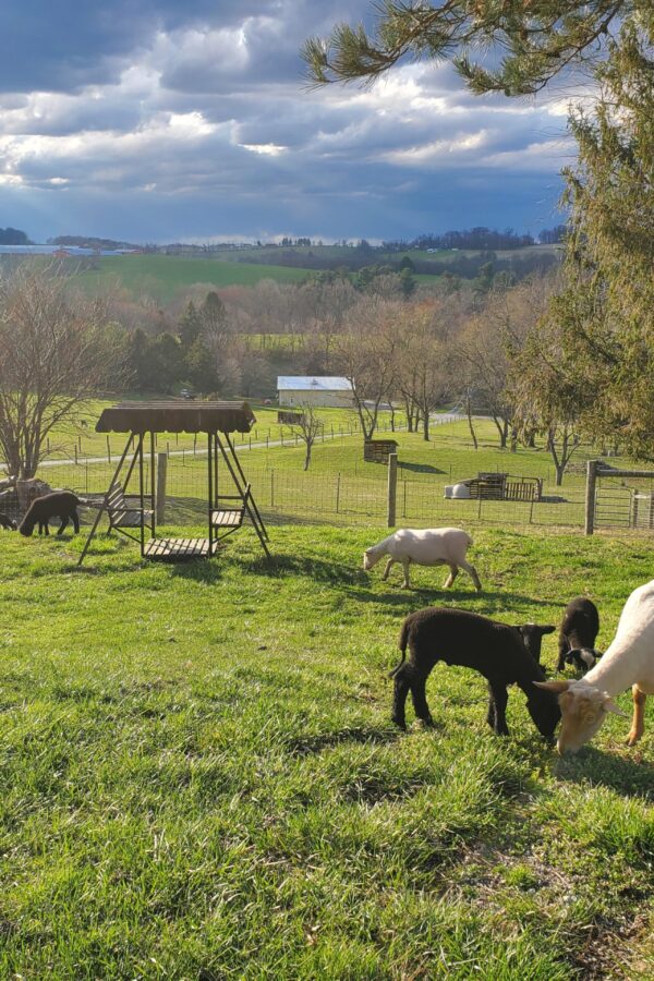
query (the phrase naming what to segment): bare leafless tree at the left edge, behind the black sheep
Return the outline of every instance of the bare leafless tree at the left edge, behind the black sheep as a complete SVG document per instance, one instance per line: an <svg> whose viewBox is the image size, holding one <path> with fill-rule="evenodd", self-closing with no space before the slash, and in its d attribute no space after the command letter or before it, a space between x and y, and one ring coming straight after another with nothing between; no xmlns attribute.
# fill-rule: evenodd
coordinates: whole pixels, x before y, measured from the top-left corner
<svg viewBox="0 0 654 981"><path fill-rule="evenodd" d="M106 326L104 304L74 295L52 267L23 263L0 279L0 453L14 476L33 477L52 431L117 387Z"/></svg>

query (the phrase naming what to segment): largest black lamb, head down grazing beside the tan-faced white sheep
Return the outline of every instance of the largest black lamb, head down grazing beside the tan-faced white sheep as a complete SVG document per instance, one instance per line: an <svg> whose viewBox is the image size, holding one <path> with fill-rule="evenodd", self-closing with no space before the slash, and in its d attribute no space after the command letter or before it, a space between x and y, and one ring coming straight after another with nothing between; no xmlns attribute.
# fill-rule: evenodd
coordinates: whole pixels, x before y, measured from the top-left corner
<svg viewBox="0 0 654 981"><path fill-rule="evenodd" d="M498 736L509 735L507 686L518 685L526 695L526 707L536 728L546 739L552 739L561 713L556 698L533 683L544 681L545 674L524 644L525 629L532 642L537 638L540 654L543 633L550 633L555 628L536 628L533 623L526 625L526 628L509 627L477 614L445 607L427 607L408 616L400 632L402 659L390 675L395 678L392 720L401 729L407 728L404 703L411 691L415 714L432 724L426 681L434 665L443 661L445 664L473 668L486 678L486 720Z"/></svg>

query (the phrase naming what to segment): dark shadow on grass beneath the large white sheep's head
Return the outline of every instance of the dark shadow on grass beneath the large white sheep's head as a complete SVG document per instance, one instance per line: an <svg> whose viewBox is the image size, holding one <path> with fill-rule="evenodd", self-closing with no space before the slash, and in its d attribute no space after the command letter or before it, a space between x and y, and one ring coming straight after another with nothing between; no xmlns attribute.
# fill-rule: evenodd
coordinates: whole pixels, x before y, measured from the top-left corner
<svg viewBox="0 0 654 981"><path fill-rule="evenodd" d="M562 756L555 765L559 780L609 787L623 797L654 796L654 765L640 759L628 760L610 752L583 747L573 756Z"/></svg>

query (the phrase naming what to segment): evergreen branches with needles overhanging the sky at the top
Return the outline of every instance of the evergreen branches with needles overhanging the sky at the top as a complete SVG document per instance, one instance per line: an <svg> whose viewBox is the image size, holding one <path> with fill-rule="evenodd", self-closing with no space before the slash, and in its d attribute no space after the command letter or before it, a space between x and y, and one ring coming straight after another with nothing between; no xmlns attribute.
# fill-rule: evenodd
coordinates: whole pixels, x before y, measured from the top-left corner
<svg viewBox="0 0 654 981"><path fill-rule="evenodd" d="M610 33L651 16L652 0L379 0L376 29L338 24L310 38L310 78L371 82L403 58L451 61L476 94L538 92L571 64L602 61ZM488 52L485 68L470 60Z"/></svg>

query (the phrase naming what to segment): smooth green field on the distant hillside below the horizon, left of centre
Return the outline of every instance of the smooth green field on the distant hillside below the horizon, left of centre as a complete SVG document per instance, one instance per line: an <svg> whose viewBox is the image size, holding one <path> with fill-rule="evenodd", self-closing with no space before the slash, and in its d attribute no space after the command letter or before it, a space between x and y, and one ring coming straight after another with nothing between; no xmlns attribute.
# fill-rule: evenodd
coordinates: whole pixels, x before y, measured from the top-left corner
<svg viewBox="0 0 654 981"><path fill-rule="evenodd" d="M301 282L314 275L310 269L177 255L102 256L95 262L99 267L97 270L80 274L89 291L110 288L119 282L135 295L145 294L160 302L172 300L177 292L197 282L215 287L254 286L262 279ZM71 267L77 264L75 259L70 263Z"/></svg>

